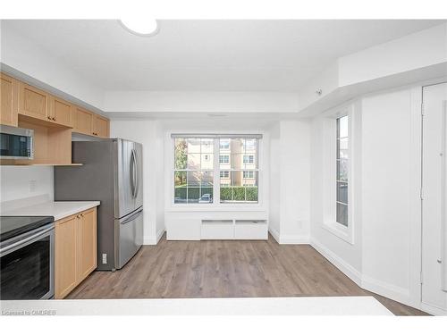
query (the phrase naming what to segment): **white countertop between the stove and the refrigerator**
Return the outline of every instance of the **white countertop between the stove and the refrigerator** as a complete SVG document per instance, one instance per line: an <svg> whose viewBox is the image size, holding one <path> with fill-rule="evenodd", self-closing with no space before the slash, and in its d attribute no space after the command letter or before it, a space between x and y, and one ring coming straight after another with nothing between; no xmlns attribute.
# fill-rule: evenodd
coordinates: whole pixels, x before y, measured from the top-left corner
<svg viewBox="0 0 447 335"><path fill-rule="evenodd" d="M48 201L2 211L6 216L54 216L55 221L99 205L99 201Z"/></svg>

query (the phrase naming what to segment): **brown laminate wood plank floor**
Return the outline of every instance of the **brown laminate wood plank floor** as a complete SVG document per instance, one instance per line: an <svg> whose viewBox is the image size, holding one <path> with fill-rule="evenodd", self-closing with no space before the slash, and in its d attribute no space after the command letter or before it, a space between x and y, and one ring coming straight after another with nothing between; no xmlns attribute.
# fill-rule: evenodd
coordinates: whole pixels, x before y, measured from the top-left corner
<svg viewBox="0 0 447 335"><path fill-rule="evenodd" d="M308 245L266 241L167 241L143 246L116 272L93 272L67 298L374 296L393 314L417 309L377 296Z"/></svg>

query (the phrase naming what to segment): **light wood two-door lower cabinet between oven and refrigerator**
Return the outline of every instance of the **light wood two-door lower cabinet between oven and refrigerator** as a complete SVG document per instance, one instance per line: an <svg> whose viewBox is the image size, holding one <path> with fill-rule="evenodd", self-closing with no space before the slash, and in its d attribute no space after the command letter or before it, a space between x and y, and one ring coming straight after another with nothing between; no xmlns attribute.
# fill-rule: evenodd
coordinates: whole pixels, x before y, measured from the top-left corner
<svg viewBox="0 0 447 335"><path fill-rule="evenodd" d="M97 208L55 222L55 298L66 297L97 268Z"/></svg>

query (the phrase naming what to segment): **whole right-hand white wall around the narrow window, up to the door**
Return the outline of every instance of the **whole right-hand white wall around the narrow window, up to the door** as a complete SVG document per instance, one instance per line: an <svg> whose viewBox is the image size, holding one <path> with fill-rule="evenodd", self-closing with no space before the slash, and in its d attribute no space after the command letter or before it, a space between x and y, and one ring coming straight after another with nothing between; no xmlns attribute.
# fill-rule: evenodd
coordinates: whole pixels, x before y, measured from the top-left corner
<svg viewBox="0 0 447 335"><path fill-rule="evenodd" d="M420 303L421 87L377 92L347 104L353 124L353 244L324 225L324 115L312 121L312 245L364 288ZM336 113L345 105L327 113Z"/></svg>

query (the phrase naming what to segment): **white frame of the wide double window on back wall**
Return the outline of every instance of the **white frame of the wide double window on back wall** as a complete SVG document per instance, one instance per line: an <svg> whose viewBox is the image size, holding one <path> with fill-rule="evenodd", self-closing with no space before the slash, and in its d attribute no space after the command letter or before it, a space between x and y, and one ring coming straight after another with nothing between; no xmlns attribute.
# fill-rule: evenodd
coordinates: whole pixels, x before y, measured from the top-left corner
<svg viewBox="0 0 447 335"><path fill-rule="evenodd" d="M165 174L166 180L165 185L166 187L169 185L169 192L165 192L165 210L166 211L196 211L196 210L205 210L205 211L242 211L242 210L265 210L264 204L265 204L265 192L268 192L268 190L265 190L266 185L263 180L264 178L264 168L262 168L263 165L261 165L264 162L264 146L265 146L265 137L266 134L264 132L240 132L240 133L231 133L231 134L224 134L224 133L202 133L200 131L198 132L188 132L185 133L183 131L167 131L166 134L166 144L169 143L169 152L170 155L166 156L168 160L165 162L169 162L169 173ZM209 204L196 204L196 203L190 203L190 204L179 204L175 203L174 199L174 191L175 191L175 180L174 180L174 174L175 174L175 159L174 159L174 143L175 143L175 137L177 137L177 134L181 134L182 138L207 138L207 135L210 136L210 138L215 138L214 142L214 169L213 169L213 202ZM219 168L219 157L220 157L220 138L239 138L238 135L240 135L240 138L250 138L249 136L253 134L253 138L257 138L257 159L255 160L257 162L257 169L253 170L254 172L257 172L257 202L241 202L241 203L221 203L220 202L220 171L228 171L231 172L234 171L229 167L228 169L220 169ZM268 140L268 139L267 139ZM230 146L231 147L231 146ZM228 150L227 148L223 148L223 150ZM226 153L223 153L223 155L228 155ZM230 158L231 160L231 158ZM229 164L231 161L229 161ZM240 169L242 170L242 169ZM167 179L167 176L169 175L169 180Z"/></svg>

